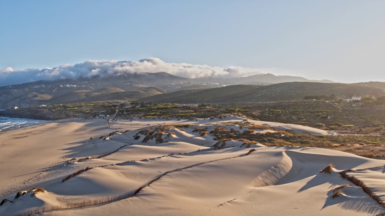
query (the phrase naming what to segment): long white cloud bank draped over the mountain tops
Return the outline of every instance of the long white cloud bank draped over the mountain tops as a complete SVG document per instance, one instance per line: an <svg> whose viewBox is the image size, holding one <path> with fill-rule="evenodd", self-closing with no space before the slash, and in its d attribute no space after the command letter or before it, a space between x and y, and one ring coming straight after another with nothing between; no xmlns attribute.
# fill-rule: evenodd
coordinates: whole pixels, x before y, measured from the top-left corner
<svg viewBox="0 0 385 216"><path fill-rule="evenodd" d="M258 73L279 72L279 68L253 69L237 66L228 68L208 65L192 65L187 63L166 63L159 58L145 58L139 61L85 61L75 65L61 65L42 70L33 68L13 70L11 67L0 70L0 86L27 83L38 80L58 80L64 78L111 76L126 73L156 73L165 71L186 78L203 77L239 77Z"/></svg>

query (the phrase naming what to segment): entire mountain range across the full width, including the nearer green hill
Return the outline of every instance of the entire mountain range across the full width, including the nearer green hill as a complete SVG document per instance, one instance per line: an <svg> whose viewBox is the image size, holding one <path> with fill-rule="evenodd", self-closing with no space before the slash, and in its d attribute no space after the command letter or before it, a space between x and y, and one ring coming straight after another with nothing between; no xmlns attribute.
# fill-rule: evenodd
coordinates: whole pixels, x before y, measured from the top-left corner
<svg viewBox="0 0 385 216"><path fill-rule="evenodd" d="M303 98L306 95L382 96L385 83L334 83L298 76L258 74L239 78L187 79L166 72L94 76L77 80L35 81L0 87L0 109L42 104L80 103L102 100L152 101L156 103L242 103ZM293 81L285 82L283 81ZM303 82L306 81L306 82ZM278 83L275 83L278 82ZM218 84L219 83L219 84ZM230 85L248 83L258 85Z"/></svg>

